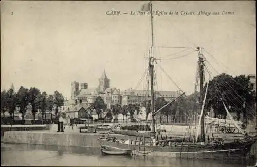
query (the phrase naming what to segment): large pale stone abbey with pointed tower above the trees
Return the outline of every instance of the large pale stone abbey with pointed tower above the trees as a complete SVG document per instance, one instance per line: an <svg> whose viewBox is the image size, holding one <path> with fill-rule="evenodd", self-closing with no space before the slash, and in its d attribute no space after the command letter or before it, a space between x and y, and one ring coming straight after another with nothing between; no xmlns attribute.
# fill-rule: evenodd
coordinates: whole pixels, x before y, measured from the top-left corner
<svg viewBox="0 0 257 167"><path fill-rule="evenodd" d="M110 79L107 78L105 70L103 71L101 78L99 78L98 87L88 88L87 83L78 83L76 81L71 83L71 100L76 103L90 104L95 101L98 96L101 96L105 104L107 104L107 109L110 108L112 104L136 104L141 103L146 98L149 99L150 95L146 97L146 91L144 90L134 90L127 89L120 91L115 87L111 88ZM176 91L156 91L156 97L164 97L166 100L170 101L177 97Z"/></svg>

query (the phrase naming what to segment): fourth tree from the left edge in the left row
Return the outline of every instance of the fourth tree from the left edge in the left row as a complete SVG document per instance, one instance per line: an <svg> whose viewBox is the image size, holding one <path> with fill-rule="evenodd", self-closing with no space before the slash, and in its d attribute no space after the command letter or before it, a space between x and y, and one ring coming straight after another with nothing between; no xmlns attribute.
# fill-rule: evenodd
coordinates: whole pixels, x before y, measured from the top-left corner
<svg viewBox="0 0 257 167"><path fill-rule="evenodd" d="M33 124L35 123L35 113L37 112L37 108L40 105L40 98L38 98L38 96L40 95L40 90L35 88L35 87L31 87L29 89L29 103L32 106L32 114L33 114Z"/></svg>

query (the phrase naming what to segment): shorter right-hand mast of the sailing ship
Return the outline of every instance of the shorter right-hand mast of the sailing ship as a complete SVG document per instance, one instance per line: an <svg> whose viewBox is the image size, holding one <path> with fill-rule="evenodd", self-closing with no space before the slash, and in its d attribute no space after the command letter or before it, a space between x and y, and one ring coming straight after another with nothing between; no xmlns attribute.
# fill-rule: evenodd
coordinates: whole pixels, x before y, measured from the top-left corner
<svg viewBox="0 0 257 167"><path fill-rule="evenodd" d="M199 96L199 106L203 107L204 100L204 60L203 54L201 54L201 48L198 48L198 66L199 66L199 77L200 77L200 96ZM201 117L201 141L205 142L205 123L204 123L204 115Z"/></svg>

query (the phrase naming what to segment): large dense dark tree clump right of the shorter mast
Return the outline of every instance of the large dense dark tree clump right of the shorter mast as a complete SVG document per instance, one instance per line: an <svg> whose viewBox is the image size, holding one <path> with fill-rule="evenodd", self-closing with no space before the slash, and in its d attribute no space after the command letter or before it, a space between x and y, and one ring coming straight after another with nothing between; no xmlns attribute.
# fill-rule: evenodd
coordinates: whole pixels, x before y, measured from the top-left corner
<svg viewBox="0 0 257 167"><path fill-rule="evenodd" d="M226 119L227 112L222 102L225 103L228 110L237 112L238 120L240 113L246 118L253 119L252 115L256 97L254 92L249 89L249 78L245 75L232 77L226 73L222 73L214 77L209 82L208 93L206 97L206 108L214 110L214 117ZM205 88L206 89L206 86ZM222 98L222 100L221 100Z"/></svg>

